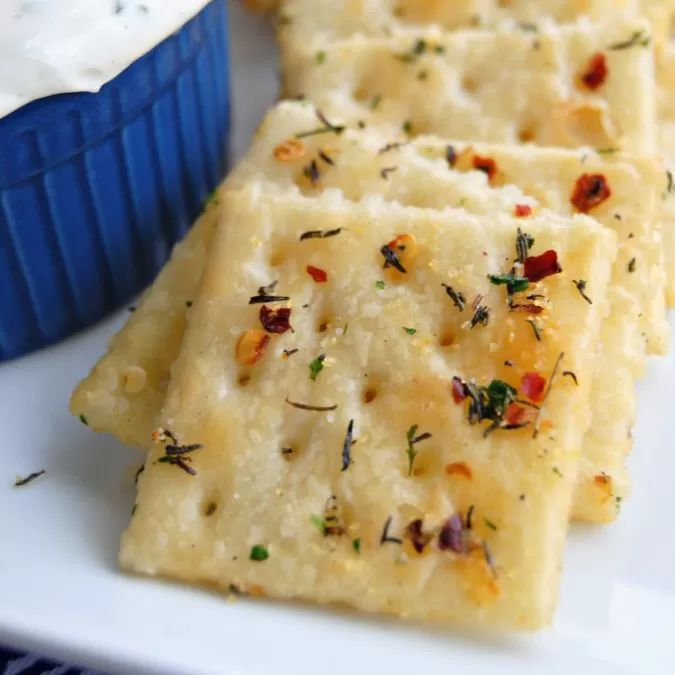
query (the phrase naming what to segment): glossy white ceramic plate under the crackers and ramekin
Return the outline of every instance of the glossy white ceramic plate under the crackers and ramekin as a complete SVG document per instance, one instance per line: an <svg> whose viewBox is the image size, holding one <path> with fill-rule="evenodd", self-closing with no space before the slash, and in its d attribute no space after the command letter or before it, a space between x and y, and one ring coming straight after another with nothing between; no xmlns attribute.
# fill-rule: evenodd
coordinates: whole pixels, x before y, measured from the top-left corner
<svg viewBox="0 0 675 675"><path fill-rule="evenodd" d="M239 156L276 93L270 31L231 8ZM666 673L675 669L675 358L639 385L634 489L573 527L555 625L479 636L125 576L139 453L68 416L125 313L0 367L0 643L117 673ZM675 322L672 322L675 324ZM47 475L17 490L15 474Z"/></svg>

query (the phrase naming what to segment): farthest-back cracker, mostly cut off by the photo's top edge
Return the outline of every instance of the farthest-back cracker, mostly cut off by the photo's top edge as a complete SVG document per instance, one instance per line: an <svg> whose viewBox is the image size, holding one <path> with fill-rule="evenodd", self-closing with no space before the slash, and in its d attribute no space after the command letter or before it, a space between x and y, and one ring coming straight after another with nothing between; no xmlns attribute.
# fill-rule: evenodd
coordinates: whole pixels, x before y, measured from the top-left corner
<svg viewBox="0 0 675 675"><path fill-rule="evenodd" d="M446 31L489 29L510 21L534 32L542 21L607 21L618 12L636 15L637 0L283 0L279 21L286 41L321 43L355 34L382 36L429 26Z"/></svg>

